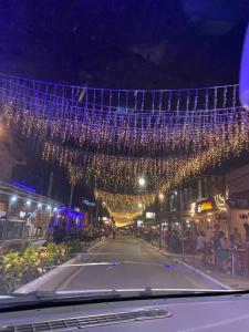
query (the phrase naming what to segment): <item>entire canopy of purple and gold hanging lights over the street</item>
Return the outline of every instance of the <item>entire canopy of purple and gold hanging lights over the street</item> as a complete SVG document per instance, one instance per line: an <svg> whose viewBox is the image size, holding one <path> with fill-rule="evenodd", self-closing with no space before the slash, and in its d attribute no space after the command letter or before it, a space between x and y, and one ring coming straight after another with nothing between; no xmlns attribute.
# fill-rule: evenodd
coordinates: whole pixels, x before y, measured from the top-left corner
<svg viewBox="0 0 249 332"><path fill-rule="evenodd" d="M7 125L38 137L42 157L65 167L72 185L94 179L96 198L120 221L249 148L238 85L110 90L0 74L0 105ZM141 175L152 193L131 195Z"/></svg>

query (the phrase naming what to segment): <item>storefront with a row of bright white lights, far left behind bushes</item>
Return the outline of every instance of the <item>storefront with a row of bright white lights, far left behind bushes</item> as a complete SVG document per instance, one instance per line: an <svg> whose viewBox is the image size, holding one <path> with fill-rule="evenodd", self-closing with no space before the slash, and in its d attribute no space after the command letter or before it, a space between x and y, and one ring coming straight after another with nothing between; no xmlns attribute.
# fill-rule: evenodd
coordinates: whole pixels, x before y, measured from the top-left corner
<svg viewBox="0 0 249 332"><path fill-rule="evenodd" d="M44 238L59 206L34 189L0 181L0 240Z"/></svg>

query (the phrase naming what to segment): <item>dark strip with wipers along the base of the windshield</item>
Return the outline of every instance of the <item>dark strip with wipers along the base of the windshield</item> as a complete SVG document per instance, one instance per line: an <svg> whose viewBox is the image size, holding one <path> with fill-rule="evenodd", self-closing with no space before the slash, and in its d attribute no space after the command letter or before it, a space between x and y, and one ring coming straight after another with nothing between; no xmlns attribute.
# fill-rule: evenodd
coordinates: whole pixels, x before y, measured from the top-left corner
<svg viewBox="0 0 249 332"><path fill-rule="evenodd" d="M35 291L28 294L11 293L9 299L0 302L0 312L28 310L37 308L63 307L71 304L97 303L105 301L129 301L170 299L186 297L212 297L243 294L248 291L204 290L204 289L114 289L114 290L77 290L77 291Z"/></svg>

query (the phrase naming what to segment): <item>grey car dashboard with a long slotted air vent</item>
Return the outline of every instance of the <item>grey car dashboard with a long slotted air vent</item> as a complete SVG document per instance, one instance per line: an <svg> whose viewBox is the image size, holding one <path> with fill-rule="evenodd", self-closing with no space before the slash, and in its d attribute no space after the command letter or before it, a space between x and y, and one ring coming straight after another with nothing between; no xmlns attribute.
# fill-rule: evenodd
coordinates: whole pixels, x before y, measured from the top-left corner
<svg viewBox="0 0 249 332"><path fill-rule="evenodd" d="M121 300L0 313L0 331L249 331L249 295Z"/></svg>

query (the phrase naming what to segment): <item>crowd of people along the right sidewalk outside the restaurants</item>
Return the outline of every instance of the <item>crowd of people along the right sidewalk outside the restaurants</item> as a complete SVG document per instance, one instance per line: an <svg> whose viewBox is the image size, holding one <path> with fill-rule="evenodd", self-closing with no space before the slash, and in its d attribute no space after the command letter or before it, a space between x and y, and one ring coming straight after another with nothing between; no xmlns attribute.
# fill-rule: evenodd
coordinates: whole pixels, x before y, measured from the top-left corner
<svg viewBox="0 0 249 332"><path fill-rule="evenodd" d="M174 227L163 229L163 243L170 252L190 253L194 257L200 256L201 263L214 266L217 270L231 272L231 264L236 273L245 273L249 267L249 225L243 225L245 236L235 227L229 236L217 224L214 228L186 229L184 232ZM159 243L159 228L151 226L139 232L145 240L153 245ZM242 240L245 238L245 241ZM184 246L183 246L184 245ZM234 262L232 259L234 259ZM248 263L247 263L248 260Z"/></svg>

